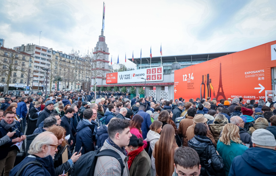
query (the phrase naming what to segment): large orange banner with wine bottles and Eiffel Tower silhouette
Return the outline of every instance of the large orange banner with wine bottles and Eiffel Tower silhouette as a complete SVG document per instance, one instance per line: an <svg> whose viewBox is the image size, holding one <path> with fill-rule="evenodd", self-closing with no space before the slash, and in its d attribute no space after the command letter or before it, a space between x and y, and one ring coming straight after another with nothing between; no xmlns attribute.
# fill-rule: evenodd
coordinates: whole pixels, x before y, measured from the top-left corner
<svg viewBox="0 0 276 176"><path fill-rule="evenodd" d="M176 70L174 99L265 99L265 90L271 90L271 68L276 67L275 48L272 41Z"/></svg>

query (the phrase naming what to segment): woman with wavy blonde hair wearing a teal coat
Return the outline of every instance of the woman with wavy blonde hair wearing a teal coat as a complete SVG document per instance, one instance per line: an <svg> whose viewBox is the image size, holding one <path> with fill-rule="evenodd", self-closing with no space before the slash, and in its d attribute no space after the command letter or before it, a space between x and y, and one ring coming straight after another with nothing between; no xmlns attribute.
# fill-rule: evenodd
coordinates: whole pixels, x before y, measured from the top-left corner
<svg viewBox="0 0 276 176"><path fill-rule="evenodd" d="M237 125L224 125L217 143L217 152L223 159L225 175L229 174L230 166L236 156L242 155L248 147L240 140L240 129Z"/></svg>

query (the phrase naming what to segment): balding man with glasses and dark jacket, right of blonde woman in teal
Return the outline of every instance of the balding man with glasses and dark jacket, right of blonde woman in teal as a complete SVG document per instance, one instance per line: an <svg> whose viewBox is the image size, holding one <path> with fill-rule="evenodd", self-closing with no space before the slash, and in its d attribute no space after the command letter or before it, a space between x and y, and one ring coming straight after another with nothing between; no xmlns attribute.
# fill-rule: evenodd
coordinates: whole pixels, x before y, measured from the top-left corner
<svg viewBox="0 0 276 176"><path fill-rule="evenodd" d="M237 125L240 129L240 140L243 144L249 144L249 147L253 147L253 143L251 141L251 136L247 131L244 129L244 122L243 119L239 116L233 116L230 118L230 123Z"/></svg>

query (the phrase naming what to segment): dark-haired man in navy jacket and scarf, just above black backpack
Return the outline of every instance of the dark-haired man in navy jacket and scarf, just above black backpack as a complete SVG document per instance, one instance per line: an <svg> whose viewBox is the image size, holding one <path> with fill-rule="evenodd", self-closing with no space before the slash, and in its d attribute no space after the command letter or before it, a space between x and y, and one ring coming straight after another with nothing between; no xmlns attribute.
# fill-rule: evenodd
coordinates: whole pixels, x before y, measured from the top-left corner
<svg viewBox="0 0 276 176"><path fill-rule="evenodd" d="M97 111L94 109L86 109L83 112L83 118L79 121L77 126L76 136L76 148L75 151L79 151L82 147L82 155L94 151L94 142L96 142L96 131L97 124L91 123L97 117Z"/></svg>

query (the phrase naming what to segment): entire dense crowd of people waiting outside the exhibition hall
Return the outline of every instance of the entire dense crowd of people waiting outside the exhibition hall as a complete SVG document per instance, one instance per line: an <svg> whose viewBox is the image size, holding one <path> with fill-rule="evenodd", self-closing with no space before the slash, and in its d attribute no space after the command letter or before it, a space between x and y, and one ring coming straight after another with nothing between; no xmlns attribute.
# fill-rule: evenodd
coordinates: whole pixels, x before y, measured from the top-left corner
<svg viewBox="0 0 276 176"><path fill-rule="evenodd" d="M90 165L94 176L276 175L272 99L98 93L103 98L89 91L1 95L0 172L73 176ZM14 144L25 140L27 154L18 162ZM64 150L68 160L60 162Z"/></svg>

